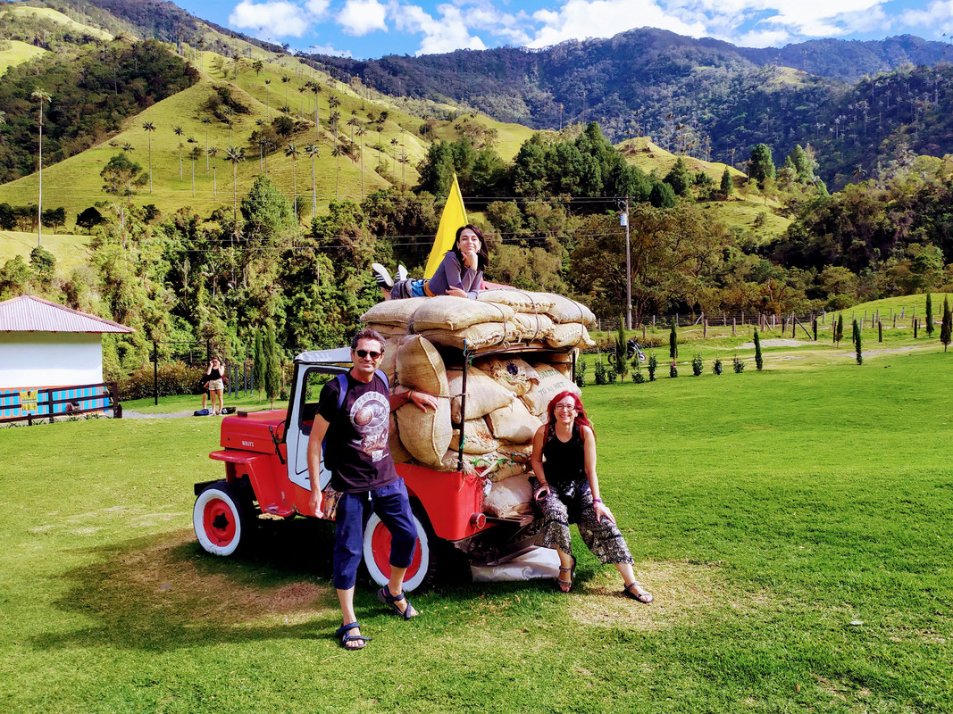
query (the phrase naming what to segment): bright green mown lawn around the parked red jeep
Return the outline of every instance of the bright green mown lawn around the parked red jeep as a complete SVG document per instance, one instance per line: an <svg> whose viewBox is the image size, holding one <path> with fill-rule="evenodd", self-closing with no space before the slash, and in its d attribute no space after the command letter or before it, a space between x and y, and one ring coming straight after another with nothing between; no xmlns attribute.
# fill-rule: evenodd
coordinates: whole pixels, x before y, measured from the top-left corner
<svg viewBox="0 0 953 714"><path fill-rule="evenodd" d="M0 706L948 712L953 355L937 345L586 387L603 498L656 602L620 597L577 539L568 596L441 585L404 623L358 585L374 637L358 653L331 637L327 524L263 522L240 559L195 544L217 420L2 430Z"/></svg>

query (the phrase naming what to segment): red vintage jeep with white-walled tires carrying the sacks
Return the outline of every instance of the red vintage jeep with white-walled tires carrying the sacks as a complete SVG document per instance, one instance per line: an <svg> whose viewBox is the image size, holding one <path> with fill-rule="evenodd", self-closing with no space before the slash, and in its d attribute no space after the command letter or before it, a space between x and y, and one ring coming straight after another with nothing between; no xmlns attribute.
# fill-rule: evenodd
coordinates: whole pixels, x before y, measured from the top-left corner
<svg viewBox="0 0 953 714"><path fill-rule="evenodd" d="M537 344L480 350L479 354L530 352L544 356L568 351ZM456 360L464 367L464 391L467 367L474 356L456 350ZM448 364L454 358L445 355ZM222 421L222 449L209 457L225 462L225 478L195 484L193 526L205 550L232 555L252 537L262 513L314 517L309 506L307 452L317 398L327 375L347 371L350 364L348 347L299 354L294 359L287 411L239 411ZM465 419L465 400L462 408ZM441 555L465 554L474 565L497 565L532 547L532 516L498 519L484 515L484 489L489 486L485 479L459 470L437 472L411 464L398 464L397 472L407 484L417 526L417 548L404 582L406 590L432 583ZM321 488L330 480L331 474L322 468ZM380 585L386 584L390 575L390 541L390 532L372 513L364 531L364 563Z"/></svg>

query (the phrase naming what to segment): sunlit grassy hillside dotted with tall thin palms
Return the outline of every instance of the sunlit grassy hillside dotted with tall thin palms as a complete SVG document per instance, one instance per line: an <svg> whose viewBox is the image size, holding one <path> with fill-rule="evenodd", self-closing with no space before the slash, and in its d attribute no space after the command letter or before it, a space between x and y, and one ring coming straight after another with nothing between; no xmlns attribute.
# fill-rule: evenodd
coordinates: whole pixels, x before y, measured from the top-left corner
<svg viewBox="0 0 953 714"><path fill-rule="evenodd" d="M109 141L45 168L44 205L51 208L59 206L67 208L68 221L71 223L76 214L84 208L97 201L109 199L110 197L101 190L102 180L99 172L126 143L133 147L132 160L143 169L148 169L150 137L142 129L142 125L151 121L156 128L152 132L152 193L148 187L140 189L138 195L132 200L137 204L154 203L166 212L192 207L200 213L208 214L218 206L230 206L233 193L232 166L222 158L224 149L229 146L229 131L224 124L217 121L209 126L209 144L219 149L219 153L218 157L211 162L215 170L206 173L204 158L206 127L201 124L201 118L204 115L201 107L213 93L213 86L222 82L232 84L237 90L236 96L251 109L250 114L236 115L232 131L233 144L245 146L248 156L247 161L239 164L237 170L239 199L248 192L254 177L260 172L258 151L247 146L248 137L256 129L255 121L273 119L276 108L285 105L286 96L292 116L299 119L302 94L298 88L306 79L318 81L322 88L317 100L321 123L321 155L315 160L319 209L326 208L330 201L335 200L335 196L359 200L362 195L360 162L352 161L346 156L342 156L338 162L331 154L334 146L328 123L328 97L331 94L335 94L341 102L337 111L341 115L339 135L342 139L344 137L350 139L351 128L347 126L347 121L352 117L352 111L357 112L356 118L364 124L367 124L369 111L379 114L381 109L388 109L390 113L390 118L382 132L378 133L368 126L364 136L364 194L377 188L391 186L389 181L375 172L378 163L385 163L391 167L391 175L397 185L406 182L408 186L413 186L416 183L418 177L416 164L424 158L427 150L426 143L416 133L421 122L418 118L395 108L385 97L374 95L369 99L360 96L357 90L334 82L327 75L290 61L287 57L266 63L264 70L258 75L251 69L251 62L243 60L237 77L233 76L231 65L228 63L224 73L216 70L215 57L216 55L211 52L198 53L196 64L203 72L203 79L193 88L180 92L132 117L125 123L125 129ZM292 81L283 83L281 81L283 76L292 77ZM270 85L265 84L266 79L271 80ZM362 88L358 89L364 91ZM297 160L296 187L298 201L306 207L306 216L311 212L312 183L311 161L303 154L303 149L306 144L314 142L315 139L313 97L314 95L310 92L303 96L304 114L310 129L304 129L291 137L291 143L294 143L298 149L302 149L302 155ZM519 143L530 135L530 129L525 127L502 125L483 117L479 121L497 128L499 150L503 151L507 158L512 158ZM179 179L179 138L172 131L175 126L183 128L183 142L190 136L195 139L194 145L185 143L183 147L185 154L193 146L198 146L203 151L203 157L195 162L194 196L192 164L188 158L183 159L182 179ZM442 129L442 133L447 133L447 129ZM392 140L396 140L397 146L391 144ZM384 146L383 152L372 148L378 141ZM360 139L356 136L355 144L360 145ZM409 158L406 167L401 167L395 161L395 154L399 154L400 145L406 150ZM285 147L282 147L268 157L267 169L279 188L291 197L294 195L293 183L295 183L293 167L291 159L285 157L284 149ZM338 165L340 167L339 185L335 181ZM0 186L0 201L23 205L35 200L38 190L37 182L37 176L33 174Z"/></svg>

